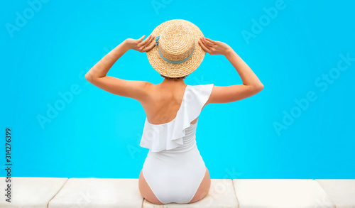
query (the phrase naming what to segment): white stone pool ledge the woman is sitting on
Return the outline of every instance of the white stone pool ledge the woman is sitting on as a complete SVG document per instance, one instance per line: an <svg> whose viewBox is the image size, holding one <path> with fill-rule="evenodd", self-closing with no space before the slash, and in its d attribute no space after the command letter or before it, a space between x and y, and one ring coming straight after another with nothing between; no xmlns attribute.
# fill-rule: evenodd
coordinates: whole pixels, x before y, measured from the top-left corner
<svg viewBox="0 0 355 208"><path fill-rule="evenodd" d="M192 204L155 205L143 199L138 179L0 177L0 207L355 207L355 180L212 179L209 194Z"/></svg>

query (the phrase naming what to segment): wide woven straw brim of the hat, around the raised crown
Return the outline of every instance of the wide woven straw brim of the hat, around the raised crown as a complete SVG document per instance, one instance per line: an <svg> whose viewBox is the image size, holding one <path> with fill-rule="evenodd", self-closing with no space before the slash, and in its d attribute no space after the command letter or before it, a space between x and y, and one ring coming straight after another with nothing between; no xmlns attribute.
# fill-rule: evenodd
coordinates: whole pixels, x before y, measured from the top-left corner
<svg viewBox="0 0 355 208"><path fill-rule="evenodd" d="M165 26L176 22L184 23L186 26L190 27L190 30L195 37L195 50L188 60L179 64L173 64L163 60L159 54L158 46L154 47L152 50L149 50L147 52L149 63L151 63L154 70L156 70L160 75L164 75L165 77L185 77L186 75L190 75L190 73L194 72L197 67L200 66L202 60L204 59L204 55L206 54L206 52L198 43L200 38L204 37L204 35L200 31L200 28L195 26L195 24L191 23L190 21L185 21L182 19L165 21L157 26L151 35L157 37L163 31ZM149 45L153 44L155 44L155 40L153 40Z"/></svg>

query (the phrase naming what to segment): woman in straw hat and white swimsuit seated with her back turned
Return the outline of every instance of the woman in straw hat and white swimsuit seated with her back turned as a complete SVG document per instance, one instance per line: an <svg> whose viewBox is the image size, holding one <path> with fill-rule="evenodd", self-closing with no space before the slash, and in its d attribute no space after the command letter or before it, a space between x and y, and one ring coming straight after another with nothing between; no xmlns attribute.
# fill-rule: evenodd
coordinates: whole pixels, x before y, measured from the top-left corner
<svg viewBox="0 0 355 208"><path fill-rule="evenodd" d="M149 148L149 152L139 176L141 195L153 204L197 202L208 194L211 183L195 140L200 112L207 104L251 97L263 89L263 84L229 45L204 38L189 21L166 21L146 40L144 37L124 40L85 77L107 92L138 100L146 112L140 146ZM153 68L164 77L163 82L107 76L114 62L130 49L146 52ZM197 69L206 52L226 56L243 84L185 84L185 77Z"/></svg>

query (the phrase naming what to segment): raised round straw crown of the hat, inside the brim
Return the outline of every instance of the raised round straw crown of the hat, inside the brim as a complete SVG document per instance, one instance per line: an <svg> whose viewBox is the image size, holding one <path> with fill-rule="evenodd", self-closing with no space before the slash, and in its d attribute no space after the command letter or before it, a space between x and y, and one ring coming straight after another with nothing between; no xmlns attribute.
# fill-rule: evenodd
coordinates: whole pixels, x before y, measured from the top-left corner
<svg viewBox="0 0 355 208"><path fill-rule="evenodd" d="M191 55L195 38L190 27L183 23L172 23L165 27L159 38L161 55L171 61L180 61Z"/></svg>

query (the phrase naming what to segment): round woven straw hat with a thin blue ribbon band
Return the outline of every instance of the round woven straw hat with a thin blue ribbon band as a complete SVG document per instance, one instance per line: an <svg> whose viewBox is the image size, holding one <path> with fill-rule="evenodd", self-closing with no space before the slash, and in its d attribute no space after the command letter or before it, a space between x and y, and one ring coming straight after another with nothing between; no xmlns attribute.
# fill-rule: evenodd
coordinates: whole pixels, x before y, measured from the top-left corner
<svg viewBox="0 0 355 208"><path fill-rule="evenodd" d="M147 52L152 67L165 77L185 77L200 66L206 52L198 41L202 32L190 21L173 19L156 27L152 50Z"/></svg>

